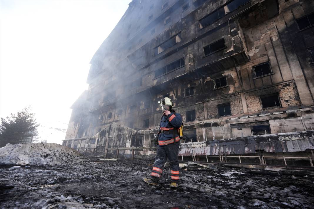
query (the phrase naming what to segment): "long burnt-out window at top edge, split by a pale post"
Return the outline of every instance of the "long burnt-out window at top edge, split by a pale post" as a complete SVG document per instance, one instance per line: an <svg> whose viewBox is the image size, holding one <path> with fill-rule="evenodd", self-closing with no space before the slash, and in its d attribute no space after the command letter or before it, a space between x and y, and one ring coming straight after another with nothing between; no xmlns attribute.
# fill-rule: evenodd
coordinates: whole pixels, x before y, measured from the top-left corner
<svg viewBox="0 0 314 209"><path fill-rule="evenodd" d="M215 10L214 12L210 13L206 17L199 20L199 26L202 29L203 27L206 27L212 23L214 23L216 20L224 17L226 14L236 10L238 7L248 3L249 0L234 0L230 3L228 3L226 6L219 8Z"/></svg>

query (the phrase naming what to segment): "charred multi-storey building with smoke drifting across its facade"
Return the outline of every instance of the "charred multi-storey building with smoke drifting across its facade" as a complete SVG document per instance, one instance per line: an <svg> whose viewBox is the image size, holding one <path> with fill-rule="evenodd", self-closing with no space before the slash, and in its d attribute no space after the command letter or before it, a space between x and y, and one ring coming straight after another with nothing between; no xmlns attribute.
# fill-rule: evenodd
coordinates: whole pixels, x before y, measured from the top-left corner
<svg viewBox="0 0 314 209"><path fill-rule="evenodd" d="M182 159L314 158L313 11L305 0L133 0L90 62L63 144L154 154L157 102L170 97Z"/></svg>

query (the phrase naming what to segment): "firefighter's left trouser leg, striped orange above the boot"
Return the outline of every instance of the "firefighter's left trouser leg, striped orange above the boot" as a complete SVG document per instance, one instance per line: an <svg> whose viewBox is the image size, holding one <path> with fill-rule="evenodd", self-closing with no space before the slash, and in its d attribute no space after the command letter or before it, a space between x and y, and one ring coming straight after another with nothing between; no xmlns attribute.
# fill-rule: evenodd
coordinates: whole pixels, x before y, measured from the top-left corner
<svg viewBox="0 0 314 209"><path fill-rule="evenodd" d="M167 161L167 155L164 146L158 146L157 155L155 157L155 162L153 165L153 171L150 174L151 179L158 182L164 168L165 162Z"/></svg>

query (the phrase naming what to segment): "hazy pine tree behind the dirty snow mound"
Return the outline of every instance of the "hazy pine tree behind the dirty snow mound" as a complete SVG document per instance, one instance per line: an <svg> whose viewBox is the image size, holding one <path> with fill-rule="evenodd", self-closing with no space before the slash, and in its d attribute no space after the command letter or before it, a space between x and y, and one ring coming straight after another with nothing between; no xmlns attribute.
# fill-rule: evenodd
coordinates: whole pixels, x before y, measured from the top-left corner
<svg viewBox="0 0 314 209"><path fill-rule="evenodd" d="M11 113L11 117L1 118L0 147L7 143L30 142L31 138L38 135L39 124L35 121L35 114L30 110L30 107L25 107L16 115Z"/></svg>

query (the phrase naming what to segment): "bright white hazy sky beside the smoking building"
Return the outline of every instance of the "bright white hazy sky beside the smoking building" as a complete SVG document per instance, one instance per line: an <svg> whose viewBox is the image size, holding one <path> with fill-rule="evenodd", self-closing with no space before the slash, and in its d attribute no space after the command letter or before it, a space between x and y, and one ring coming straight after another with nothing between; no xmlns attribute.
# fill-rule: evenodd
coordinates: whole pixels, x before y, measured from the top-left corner
<svg viewBox="0 0 314 209"><path fill-rule="evenodd" d="M89 61L130 2L0 0L0 116L31 105L42 125L66 128Z"/></svg>

